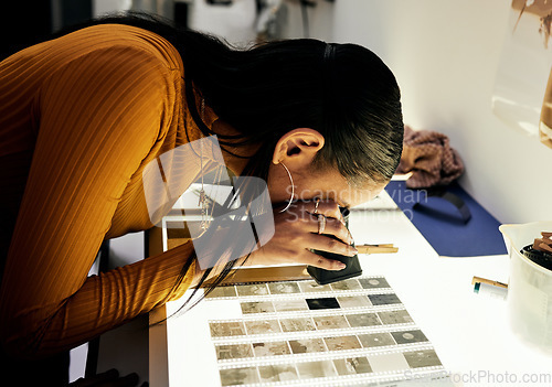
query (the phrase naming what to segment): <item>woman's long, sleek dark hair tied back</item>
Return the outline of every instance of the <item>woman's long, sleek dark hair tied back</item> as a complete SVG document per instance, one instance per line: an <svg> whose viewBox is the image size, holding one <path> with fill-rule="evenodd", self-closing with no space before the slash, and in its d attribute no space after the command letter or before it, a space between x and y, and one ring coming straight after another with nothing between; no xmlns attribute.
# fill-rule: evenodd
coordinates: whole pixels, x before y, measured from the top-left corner
<svg viewBox="0 0 552 387"><path fill-rule="evenodd" d="M337 168L355 187L388 182L399 164L403 141L399 86L365 47L297 39L236 50L217 37L144 13L93 22L99 23L149 30L178 50L187 100L195 101L199 90L205 104L241 135L214 133L201 120L199 107L189 104L201 131L217 135L229 152L243 144L259 146L244 174L266 180L276 142L295 128L312 128L325 137L315 169ZM231 270L229 262L215 284Z"/></svg>

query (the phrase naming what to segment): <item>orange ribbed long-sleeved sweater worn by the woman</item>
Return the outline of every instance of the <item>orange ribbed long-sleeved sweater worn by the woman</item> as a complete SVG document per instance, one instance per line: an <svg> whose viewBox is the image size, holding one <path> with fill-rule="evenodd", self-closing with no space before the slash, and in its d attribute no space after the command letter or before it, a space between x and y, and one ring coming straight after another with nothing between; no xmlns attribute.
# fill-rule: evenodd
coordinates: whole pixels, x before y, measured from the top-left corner
<svg viewBox="0 0 552 387"><path fill-rule="evenodd" d="M181 57L166 40L118 24L86 28L0 63L0 215L4 238L12 233L0 257L7 351L36 356L74 347L189 287L193 264L171 292L190 243L87 277L104 239L152 226L145 165L185 143L184 130L199 138L182 76ZM216 116L205 114L210 126ZM193 180L199 170L188 173Z"/></svg>

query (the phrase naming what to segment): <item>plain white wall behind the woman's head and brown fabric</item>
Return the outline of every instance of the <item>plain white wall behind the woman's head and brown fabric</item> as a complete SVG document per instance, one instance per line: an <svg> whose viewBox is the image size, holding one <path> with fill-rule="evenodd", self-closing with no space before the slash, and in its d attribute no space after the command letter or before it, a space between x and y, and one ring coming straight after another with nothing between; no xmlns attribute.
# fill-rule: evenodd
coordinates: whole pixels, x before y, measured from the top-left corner
<svg viewBox="0 0 552 387"><path fill-rule="evenodd" d="M333 40L362 44L395 73L405 122L446 133L461 185L499 222L552 219L552 150L490 108L509 0L340 0Z"/></svg>

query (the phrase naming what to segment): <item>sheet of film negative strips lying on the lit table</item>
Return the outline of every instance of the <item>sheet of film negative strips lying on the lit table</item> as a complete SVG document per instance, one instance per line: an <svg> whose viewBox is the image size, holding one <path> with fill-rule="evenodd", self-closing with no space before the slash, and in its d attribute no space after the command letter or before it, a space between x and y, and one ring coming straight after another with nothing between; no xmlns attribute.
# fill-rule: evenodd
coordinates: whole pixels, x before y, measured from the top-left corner
<svg viewBox="0 0 552 387"><path fill-rule="evenodd" d="M383 277L222 287L210 319L222 386L360 386L446 375L427 336Z"/></svg>

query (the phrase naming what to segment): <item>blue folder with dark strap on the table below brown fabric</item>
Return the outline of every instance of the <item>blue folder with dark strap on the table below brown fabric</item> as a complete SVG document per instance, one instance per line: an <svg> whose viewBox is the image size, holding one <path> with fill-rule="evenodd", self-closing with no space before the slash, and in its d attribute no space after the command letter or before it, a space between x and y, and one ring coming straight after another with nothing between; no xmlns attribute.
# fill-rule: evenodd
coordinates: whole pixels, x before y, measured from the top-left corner
<svg viewBox="0 0 552 387"><path fill-rule="evenodd" d="M404 181L385 191L440 256L507 254L500 223L456 182L442 189L410 190Z"/></svg>

